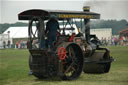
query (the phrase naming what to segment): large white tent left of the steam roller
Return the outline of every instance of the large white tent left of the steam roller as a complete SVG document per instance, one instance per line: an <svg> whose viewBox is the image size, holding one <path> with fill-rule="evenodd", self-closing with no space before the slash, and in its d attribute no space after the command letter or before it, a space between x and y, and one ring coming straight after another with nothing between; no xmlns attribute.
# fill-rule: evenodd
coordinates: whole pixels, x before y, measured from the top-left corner
<svg viewBox="0 0 128 85"><path fill-rule="evenodd" d="M35 27L33 26L33 30ZM28 27L9 27L2 35L8 35L7 38L3 38L3 41L8 39L11 41L11 47L15 47L16 42L26 43L26 39L28 38ZM3 42L2 41L2 42Z"/></svg>

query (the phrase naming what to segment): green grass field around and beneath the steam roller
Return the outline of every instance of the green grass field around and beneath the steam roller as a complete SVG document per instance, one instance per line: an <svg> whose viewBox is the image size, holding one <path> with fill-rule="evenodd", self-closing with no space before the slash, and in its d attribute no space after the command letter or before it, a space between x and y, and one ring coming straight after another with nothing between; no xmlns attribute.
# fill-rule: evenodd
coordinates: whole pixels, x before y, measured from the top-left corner
<svg viewBox="0 0 128 85"><path fill-rule="evenodd" d="M128 85L128 46L108 47L116 59L107 74L84 74L74 81L28 76L28 50L0 50L0 85Z"/></svg>

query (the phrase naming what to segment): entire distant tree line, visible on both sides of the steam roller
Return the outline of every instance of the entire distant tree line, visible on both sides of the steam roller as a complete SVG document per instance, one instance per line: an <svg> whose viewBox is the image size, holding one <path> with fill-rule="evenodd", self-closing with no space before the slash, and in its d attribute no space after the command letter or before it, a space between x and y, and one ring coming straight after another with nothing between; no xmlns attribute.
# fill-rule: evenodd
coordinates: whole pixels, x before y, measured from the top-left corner
<svg viewBox="0 0 128 85"><path fill-rule="evenodd" d="M61 23L62 24L62 23ZM78 27L80 27L80 22L77 22ZM0 34L2 34L9 27L17 27L17 26L28 26L28 23L16 22L13 24L4 23L0 24ZM84 27L84 24L82 24ZM128 21L123 20L91 20L90 23L91 29L103 29L103 28L112 28L112 34L118 35L119 32L125 28L128 28ZM84 30L82 30L84 31Z"/></svg>

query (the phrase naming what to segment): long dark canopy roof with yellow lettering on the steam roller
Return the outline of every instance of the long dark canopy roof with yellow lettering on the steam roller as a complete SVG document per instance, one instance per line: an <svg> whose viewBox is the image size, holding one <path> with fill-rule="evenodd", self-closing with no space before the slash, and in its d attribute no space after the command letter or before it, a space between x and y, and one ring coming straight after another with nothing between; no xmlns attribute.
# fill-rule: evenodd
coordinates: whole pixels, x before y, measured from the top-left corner
<svg viewBox="0 0 128 85"><path fill-rule="evenodd" d="M70 19L70 18L84 18L84 19L99 19L100 14L94 12L83 11L64 11L64 10L41 10L31 9L26 10L18 14L19 20L30 20L34 16L38 16L47 20L51 16L55 16L58 19Z"/></svg>

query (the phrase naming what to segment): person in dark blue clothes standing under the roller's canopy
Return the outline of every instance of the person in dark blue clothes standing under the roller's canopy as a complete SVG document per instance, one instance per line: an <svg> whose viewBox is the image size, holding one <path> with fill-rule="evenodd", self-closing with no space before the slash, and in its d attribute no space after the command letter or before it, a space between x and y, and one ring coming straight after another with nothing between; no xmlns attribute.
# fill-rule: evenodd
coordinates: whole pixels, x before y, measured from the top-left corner
<svg viewBox="0 0 128 85"><path fill-rule="evenodd" d="M60 30L59 23L57 22L55 17L50 18L46 24L45 31L45 33L48 33L48 48L51 48L53 42L56 40L57 29Z"/></svg>

